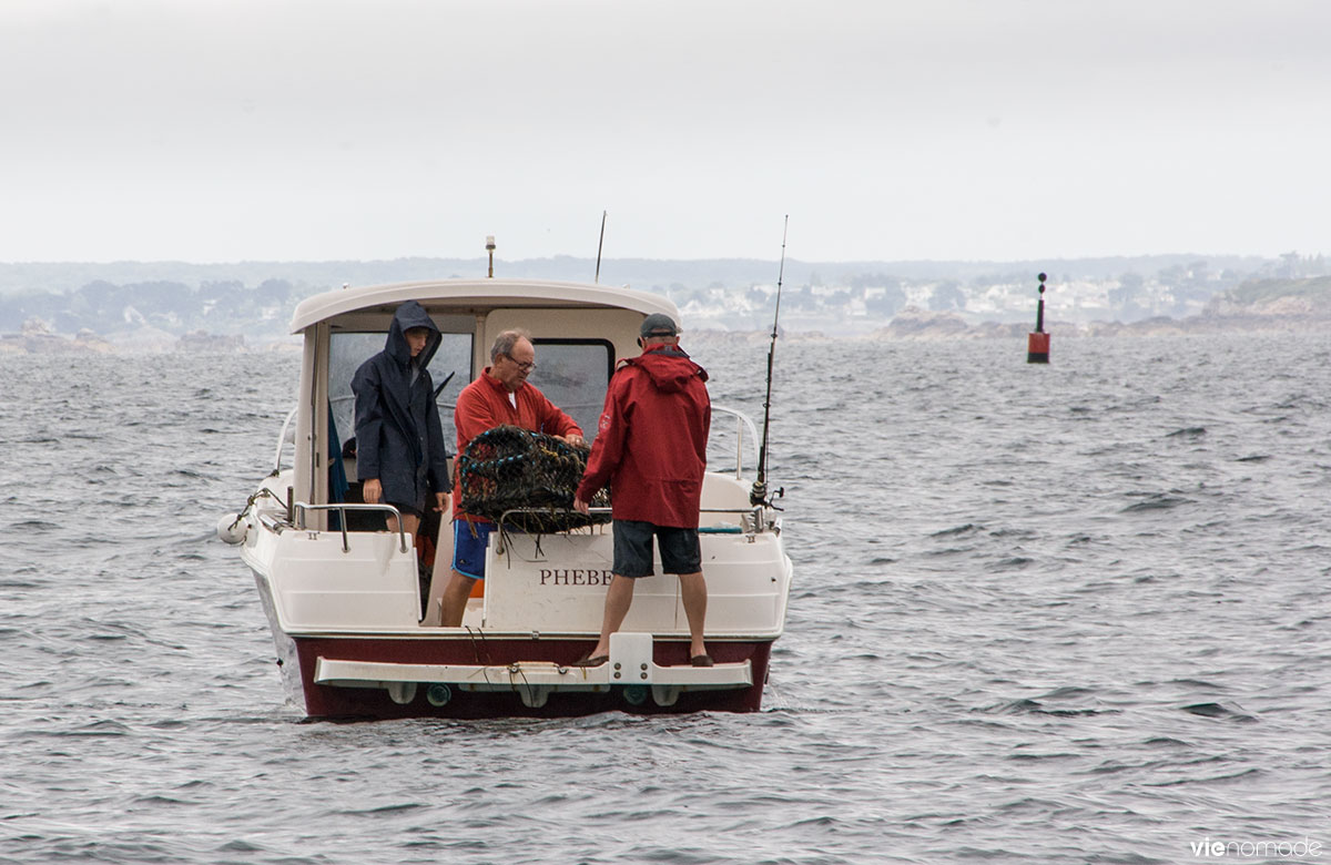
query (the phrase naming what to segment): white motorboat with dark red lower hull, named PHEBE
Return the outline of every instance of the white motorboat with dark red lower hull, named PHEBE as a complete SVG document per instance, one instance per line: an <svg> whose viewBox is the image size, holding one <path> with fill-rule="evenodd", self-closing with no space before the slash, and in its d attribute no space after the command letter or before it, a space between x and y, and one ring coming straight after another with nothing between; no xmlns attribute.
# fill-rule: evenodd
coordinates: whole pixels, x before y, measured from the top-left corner
<svg viewBox="0 0 1331 865"><path fill-rule="evenodd" d="M689 664L679 580L660 572L659 559L656 575L636 584L610 663L574 665L600 631L610 526L495 532L483 594L470 599L461 627L439 624L451 532L438 534L433 579L418 579L418 546L434 542L437 530L426 523L413 539L358 528L393 508L354 503L355 471L341 456L353 430L351 375L383 347L394 311L409 299L443 333L430 369L437 383L455 375L438 397L450 444L453 398L488 365L500 331L532 334L540 363L531 382L590 438L616 358L638 354L643 318L679 321L659 295L534 279L347 287L302 302L291 321L303 337L298 405L272 472L238 515L218 523L254 572L294 703L311 717L759 709L792 568L777 510L751 503L744 463L756 448L753 423L721 406L712 407L713 442L725 436L733 450L725 466L708 466L700 515L713 667ZM339 496L339 468L353 480L350 495Z"/></svg>

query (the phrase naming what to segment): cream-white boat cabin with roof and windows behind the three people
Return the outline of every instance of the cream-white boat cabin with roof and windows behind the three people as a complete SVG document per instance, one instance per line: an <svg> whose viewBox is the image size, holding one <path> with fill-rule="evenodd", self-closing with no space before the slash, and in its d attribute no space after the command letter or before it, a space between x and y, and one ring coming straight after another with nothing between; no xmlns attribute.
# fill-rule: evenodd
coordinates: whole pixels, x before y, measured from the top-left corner
<svg viewBox="0 0 1331 865"><path fill-rule="evenodd" d="M504 330L531 334L539 357L528 381L578 421L590 442L615 361L639 351L643 317L664 313L679 319L675 306L658 295L535 279L410 282L313 297L291 321L305 335L301 394L307 397L295 415L298 500L330 500L329 463L354 431L351 377L383 349L393 314L411 299L425 306L443 335L430 375L437 387L449 382L437 399L446 438L453 434L453 398L490 366L490 346ZM345 467L354 480L354 464ZM311 519L322 528L327 512Z"/></svg>

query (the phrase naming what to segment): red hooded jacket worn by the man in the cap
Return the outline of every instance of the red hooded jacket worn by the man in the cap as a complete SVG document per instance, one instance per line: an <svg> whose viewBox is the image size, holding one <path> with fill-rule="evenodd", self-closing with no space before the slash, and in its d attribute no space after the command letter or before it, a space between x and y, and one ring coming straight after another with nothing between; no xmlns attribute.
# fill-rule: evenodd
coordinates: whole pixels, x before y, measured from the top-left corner
<svg viewBox="0 0 1331 865"><path fill-rule="evenodd" d="M697 528L712 402L707 370L679 346L648 346L620 361L578 498L610 483L615 519Z"/></svg>

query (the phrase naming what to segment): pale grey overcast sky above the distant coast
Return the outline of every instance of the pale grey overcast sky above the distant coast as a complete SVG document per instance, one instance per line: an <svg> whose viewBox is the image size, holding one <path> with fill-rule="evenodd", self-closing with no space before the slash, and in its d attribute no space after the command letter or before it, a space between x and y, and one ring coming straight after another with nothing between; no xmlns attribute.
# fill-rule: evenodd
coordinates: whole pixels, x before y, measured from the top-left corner
<svg viewBox="0 0 1331 865"><path fill-rule="evenodd" d="M5 0L0 261L1331 253L1323 0Z"/></svg>

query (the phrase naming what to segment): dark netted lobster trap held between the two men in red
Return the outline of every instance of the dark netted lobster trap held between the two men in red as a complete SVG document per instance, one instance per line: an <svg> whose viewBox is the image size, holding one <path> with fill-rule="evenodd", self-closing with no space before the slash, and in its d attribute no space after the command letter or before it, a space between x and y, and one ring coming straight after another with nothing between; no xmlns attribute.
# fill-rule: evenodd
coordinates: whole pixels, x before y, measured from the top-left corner
<svg viewBox="0 0 1331 865"><path fill-rule="evenodd" d="M588 452L516 426L486 430L458 456L462 510L534 534L608 523L610 514L572 510ZM599 491L591 506L610 507L608 491Z"/></svg>

